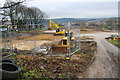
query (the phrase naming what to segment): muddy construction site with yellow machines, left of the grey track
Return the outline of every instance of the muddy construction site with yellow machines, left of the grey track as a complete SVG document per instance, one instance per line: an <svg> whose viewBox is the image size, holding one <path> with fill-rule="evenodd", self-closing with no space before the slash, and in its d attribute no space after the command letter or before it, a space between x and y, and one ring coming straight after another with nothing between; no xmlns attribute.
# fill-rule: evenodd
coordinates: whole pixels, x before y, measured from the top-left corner
<svg viewBox="0 0 120 80"><path fill-rule="evenodd" d="M82 77L83 72L95 60L96 35L107 33L109 38L110 33L68 27L70 26L61 29L50 20L48 30L45 31L35 30L15 34L9 32L12 36L4 34L1 39L2 58L5 61L13 60L20 66L22 70L20 78ZM118 39L115 37L115 40Z"/></svg>

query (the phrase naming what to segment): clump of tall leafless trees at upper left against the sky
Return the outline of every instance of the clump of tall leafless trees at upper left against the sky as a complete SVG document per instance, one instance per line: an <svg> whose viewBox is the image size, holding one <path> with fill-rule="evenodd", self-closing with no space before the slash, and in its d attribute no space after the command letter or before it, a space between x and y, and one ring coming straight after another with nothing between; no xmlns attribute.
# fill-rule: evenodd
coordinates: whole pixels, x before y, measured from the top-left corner
<svg viewBox="0 0 120 80"><path fill-rule="evenodd" d="M31 29L33 28L32 25L34 25L35 29L41 27L40 25L46 16L44 12L36 7L27 7L20 3L17 5L15 4L16 2L12 0L6 0L3 8L8 6L9 8L3 9L1 13L3 21L5 21L4 19L10 19L13 29L15 25L17 25L19 29L27 27Z"/></svg>

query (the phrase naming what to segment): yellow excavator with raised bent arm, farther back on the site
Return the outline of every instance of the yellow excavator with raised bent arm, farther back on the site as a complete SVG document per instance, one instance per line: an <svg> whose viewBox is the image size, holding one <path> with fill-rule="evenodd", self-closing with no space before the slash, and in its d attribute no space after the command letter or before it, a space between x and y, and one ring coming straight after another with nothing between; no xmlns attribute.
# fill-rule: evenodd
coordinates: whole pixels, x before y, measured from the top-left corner
<svg viewBox="0 0 120 80"><path fill-rule="evenodd" d="M56 29L55 35L64 35L65 34L65 29L61 29L55 22L50 20L50 25L49 25L49 30Z"/></svg>

